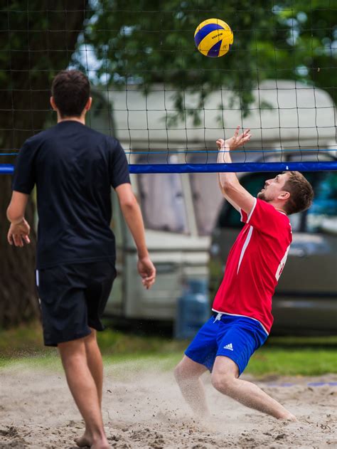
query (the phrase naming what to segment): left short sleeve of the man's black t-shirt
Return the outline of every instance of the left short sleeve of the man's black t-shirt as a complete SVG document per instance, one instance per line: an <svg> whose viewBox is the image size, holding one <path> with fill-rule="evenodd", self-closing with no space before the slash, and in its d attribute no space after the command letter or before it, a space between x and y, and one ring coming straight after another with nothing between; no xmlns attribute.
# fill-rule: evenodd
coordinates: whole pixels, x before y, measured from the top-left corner
<svg viewBox="0 0 337 449"><path fill-rule="evenodd" d="M16 157L12 189L30 194L36 183L36 151L26 141Z"/></svg>

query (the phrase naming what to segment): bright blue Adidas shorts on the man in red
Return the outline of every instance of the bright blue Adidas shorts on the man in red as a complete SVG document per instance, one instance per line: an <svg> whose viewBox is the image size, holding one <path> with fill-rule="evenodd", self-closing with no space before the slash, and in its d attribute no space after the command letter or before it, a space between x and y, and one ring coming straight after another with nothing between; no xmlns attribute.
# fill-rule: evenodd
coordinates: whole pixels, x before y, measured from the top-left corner
<svg viewBox="0 0 337 449"><path fill-rule="evenodd" d="M260 322L248 317L217 314L199 330L186 349L186 356L210 371L216 356L226 356L239 367L239 376L252 354L264 344L268 335Z"/></svg>

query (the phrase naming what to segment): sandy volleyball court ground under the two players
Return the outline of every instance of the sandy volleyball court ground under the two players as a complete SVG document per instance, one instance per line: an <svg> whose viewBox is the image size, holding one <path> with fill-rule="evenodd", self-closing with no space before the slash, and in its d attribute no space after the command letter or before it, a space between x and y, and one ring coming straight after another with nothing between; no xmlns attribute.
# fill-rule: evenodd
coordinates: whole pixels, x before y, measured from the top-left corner
<svg viewBox="0 0 337 449"><path fill-rule="evenodd" d="M193 418L171 372L107 367L103 416L112 448L337 448L336 374L256 381L297 423L245 408L215 391L207 374L203 379L212 423ZM1 369L0 448L74 448L82 429L59 366Z"/></svg>

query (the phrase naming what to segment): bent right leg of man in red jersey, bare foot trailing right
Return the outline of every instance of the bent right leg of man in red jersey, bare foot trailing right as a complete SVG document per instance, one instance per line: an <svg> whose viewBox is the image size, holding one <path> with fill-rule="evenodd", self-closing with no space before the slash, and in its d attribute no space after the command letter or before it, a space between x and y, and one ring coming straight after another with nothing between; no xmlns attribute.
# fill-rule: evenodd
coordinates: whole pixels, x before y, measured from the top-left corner
<svg viewBox="0 0 337 449"><path fill-rule="evenodd" d="M257 385L242 381L238 376L239 369L232 359L225 356L216 357L212 373L212 384L215 389L236 399L244 406L268 413L274 418L296 421L294 415Z"/></svg>

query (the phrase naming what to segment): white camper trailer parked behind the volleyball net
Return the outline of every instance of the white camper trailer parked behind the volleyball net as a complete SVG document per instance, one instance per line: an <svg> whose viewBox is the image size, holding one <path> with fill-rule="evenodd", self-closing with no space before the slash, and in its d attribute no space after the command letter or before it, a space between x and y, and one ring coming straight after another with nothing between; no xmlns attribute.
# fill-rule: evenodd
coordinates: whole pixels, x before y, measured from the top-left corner
<svg viewBox="0 0 337 449"><path fill-rule="evenodd" d="M186 162L186 158L188 162L215 162L215 140L230 137L237 125L252 130L247 149L254 151L237 152L235 162L263 161L266 155L270 161L270 154L272 161L278 162L289 152L293 160L301 160L304 150L311 154L316 149L336 148L331 97L308 85L264 81L255 91L247 117L242 117L240 105L228 106L225 90L214 92L200 110L199 127L189 117L166 126L174 113L173 95L173 90L159 85L147 95L136 85L127 91L95 93L96 107L88 125L117 137L132 164L175 164ZM186 107L197 107L196 95L183 95ZM270 153L273 149L282 152ZM320 158L324 160L323 152L315 152L313 159ZM136 248L112 194L117 280L106 312L127 319L173 320L183 287L195 279L208 279L210 234L223 204L217 176L137 174L132 175L132 186L144 216L157 279L151 290L144 290L137 273Z"/></svg>

